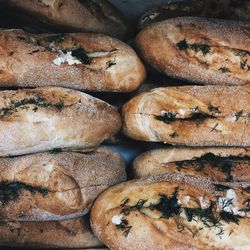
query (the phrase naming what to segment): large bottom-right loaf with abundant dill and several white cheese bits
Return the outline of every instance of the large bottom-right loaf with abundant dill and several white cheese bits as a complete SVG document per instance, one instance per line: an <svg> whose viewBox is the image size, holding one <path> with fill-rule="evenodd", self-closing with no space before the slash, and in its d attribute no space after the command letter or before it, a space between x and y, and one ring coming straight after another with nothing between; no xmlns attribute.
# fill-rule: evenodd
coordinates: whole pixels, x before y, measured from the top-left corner
<svg viewBox="0 0 250 250"><path fill-rule="evenodd" d="M92 229L111 249L248 249L249 185L176 174L121 183L95 201Z"/></svg>

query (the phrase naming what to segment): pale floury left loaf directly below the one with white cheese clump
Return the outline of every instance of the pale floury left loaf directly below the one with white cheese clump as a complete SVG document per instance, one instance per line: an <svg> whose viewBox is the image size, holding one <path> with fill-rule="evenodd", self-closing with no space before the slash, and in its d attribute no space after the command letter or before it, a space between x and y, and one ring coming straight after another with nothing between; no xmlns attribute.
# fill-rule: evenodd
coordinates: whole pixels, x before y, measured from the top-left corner
<svg viewBox="0 0 250 250"><path fill-rule="evenodd" d="M52 149L88 151L117 133L109 104L56 87L0 91L0 156Z"/></svg>

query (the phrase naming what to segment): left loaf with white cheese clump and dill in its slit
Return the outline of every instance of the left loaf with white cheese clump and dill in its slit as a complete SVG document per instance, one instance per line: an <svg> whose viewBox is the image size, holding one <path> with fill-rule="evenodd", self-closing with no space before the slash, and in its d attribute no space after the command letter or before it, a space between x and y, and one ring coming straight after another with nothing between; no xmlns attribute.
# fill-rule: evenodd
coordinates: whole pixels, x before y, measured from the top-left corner
<svg viewBox="0 0 250 250"><path fill-rule="evenodd" d="M101 34L0 30L0 86L130 92L146 76L125 43Z"/></svg>

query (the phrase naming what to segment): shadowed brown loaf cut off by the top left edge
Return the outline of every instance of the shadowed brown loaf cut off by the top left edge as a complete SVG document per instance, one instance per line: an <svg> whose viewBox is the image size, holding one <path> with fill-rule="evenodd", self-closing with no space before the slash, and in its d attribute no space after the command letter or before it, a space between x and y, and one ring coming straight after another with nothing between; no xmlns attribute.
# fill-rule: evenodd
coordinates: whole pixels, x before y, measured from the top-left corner
<svg viewBox="0 0 250 250"><path fill-rule="evenodd" d="M1 0L7 11L51 30L87 31L125 38L128 27L122 14L106 0Z"/></svg>

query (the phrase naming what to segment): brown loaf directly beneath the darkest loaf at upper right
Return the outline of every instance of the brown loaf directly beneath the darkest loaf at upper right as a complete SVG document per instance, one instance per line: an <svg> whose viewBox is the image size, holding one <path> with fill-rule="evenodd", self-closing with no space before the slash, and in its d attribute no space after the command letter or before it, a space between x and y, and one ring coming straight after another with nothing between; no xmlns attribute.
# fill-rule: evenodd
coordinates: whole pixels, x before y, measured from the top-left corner
<svg viewBox="0 0 250 250"><path fill-rule="evenodd" d="M154 23L137 36L145 60L174 78L209 85L250 83L250 24L198 17Z"/></svg>

